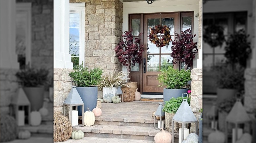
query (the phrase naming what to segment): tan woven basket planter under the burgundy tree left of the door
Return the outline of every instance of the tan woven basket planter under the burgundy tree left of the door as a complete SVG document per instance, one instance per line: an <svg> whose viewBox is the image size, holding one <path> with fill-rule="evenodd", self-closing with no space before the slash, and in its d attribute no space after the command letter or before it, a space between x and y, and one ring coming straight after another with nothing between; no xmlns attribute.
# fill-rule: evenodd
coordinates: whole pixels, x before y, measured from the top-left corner
<svg viewBox="0 0 256 143"><path fill-rule="evenodd" d="M123 102L132 102L135 100L135 91L137 89L137 82L129 82L127 85L130 87L122 87Z"/></svg>

